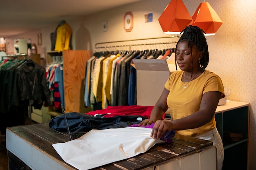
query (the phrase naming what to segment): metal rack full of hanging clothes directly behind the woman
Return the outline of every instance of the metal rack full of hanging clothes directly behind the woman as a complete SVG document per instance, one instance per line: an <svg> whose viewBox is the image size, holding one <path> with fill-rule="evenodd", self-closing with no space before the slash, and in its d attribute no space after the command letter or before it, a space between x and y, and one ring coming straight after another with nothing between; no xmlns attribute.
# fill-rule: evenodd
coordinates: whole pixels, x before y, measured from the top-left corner
<svg viewBox="0 0 256 170"><path fill-rule="evenodd" d="M88 61L86 72L86 106L98 110L109 105L134 105L136 73L130 65L132 60L158 57L172 60L171 54L175 51L178 40L180 37L176 35L95 44L95 53ZM100 76L102 78L98 79Z"/></svg>

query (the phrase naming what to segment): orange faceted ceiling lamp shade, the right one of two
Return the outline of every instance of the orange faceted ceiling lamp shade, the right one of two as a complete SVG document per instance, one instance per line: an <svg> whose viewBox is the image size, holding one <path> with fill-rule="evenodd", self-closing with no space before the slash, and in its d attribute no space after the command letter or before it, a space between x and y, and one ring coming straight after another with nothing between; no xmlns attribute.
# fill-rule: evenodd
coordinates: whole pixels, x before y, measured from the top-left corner
<svg viewBox="0 0 256 170"><path fill-rule="evenodd" d="M206 35L214 35L222 20L208 2L202 2L192 15L193 26L198 26Z"/></svg>

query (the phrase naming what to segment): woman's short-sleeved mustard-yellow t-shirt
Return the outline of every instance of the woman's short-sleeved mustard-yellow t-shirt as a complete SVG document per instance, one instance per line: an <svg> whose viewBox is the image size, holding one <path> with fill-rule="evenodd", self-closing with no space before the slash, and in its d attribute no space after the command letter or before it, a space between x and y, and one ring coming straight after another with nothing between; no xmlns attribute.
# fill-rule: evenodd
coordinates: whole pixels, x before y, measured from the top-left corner
<svg viewBox="0 0 256 170"><path fill-rule="evenodd" d="M184 88L182 82L182 74L184 71L175 71L167 80L164 87L170 91L167 97L167 105L170 110L171 118L173 120L187 117L200 108L200 103L204 93L209 91L219 91L222 93L221 98L224 97L224 87L218 75L208 70L205 70L198 78L189 82ZM194 129L177 130L180 135L198 136L212 130L216 126L215 117L204 126Z"/></svg>

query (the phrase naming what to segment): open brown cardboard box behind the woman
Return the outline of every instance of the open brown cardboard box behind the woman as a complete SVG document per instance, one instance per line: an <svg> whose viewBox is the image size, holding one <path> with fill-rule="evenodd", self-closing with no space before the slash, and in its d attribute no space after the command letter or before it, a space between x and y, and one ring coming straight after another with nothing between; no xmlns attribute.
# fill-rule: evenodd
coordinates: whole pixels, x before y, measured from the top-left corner
<svg viewBox="0 0 256 170"><path fill-rule="evenodd" d="M137 70L137 105L155 106L164 90L167 79L176 71L175 60L133 60ZM179 66L177 66L180 71ZM226 97L218 105L226 104Z"/></svg>

